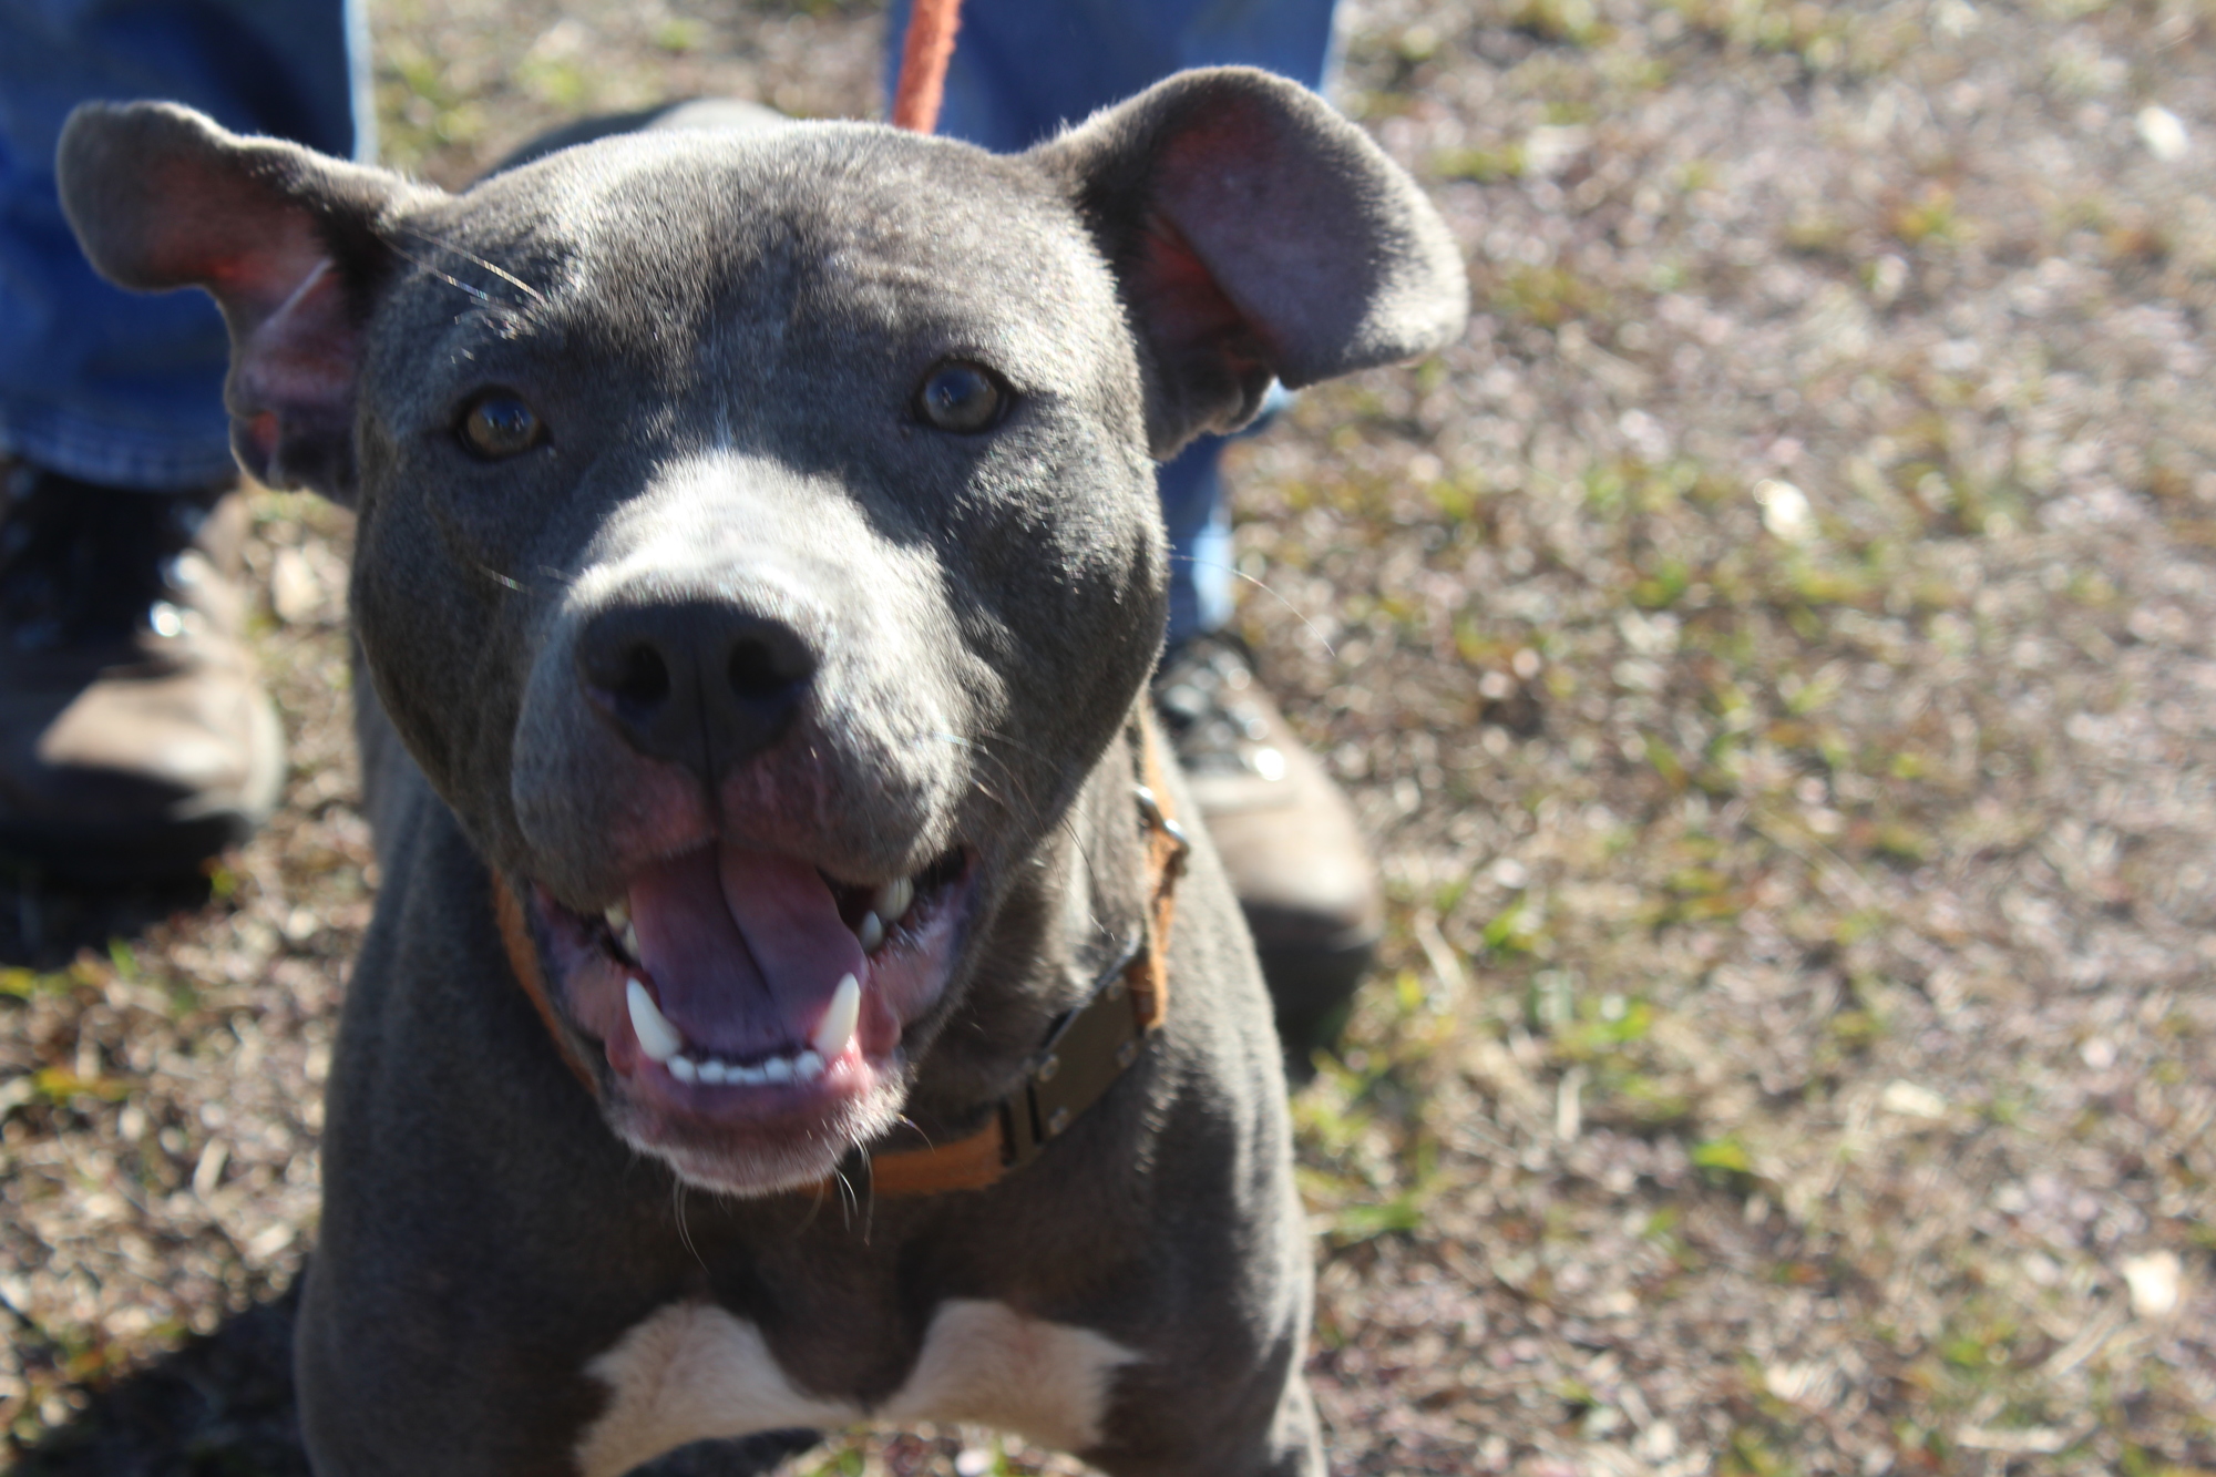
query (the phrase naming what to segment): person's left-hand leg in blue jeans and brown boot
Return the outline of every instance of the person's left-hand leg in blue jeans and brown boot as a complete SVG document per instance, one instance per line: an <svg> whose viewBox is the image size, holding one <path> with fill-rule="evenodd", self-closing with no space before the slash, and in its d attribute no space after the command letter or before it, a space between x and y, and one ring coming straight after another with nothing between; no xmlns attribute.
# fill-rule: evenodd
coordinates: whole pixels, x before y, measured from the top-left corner
<svg viewBox="0 0 2216 1477"><path fill-rule="evenodd" d="M100 282L53 186L69 111L171 98L350 155L343 0L0 0L0 852L191 869L281 778L237 641L224 326ZM350 55L352 53L352 55Z"/></svg>

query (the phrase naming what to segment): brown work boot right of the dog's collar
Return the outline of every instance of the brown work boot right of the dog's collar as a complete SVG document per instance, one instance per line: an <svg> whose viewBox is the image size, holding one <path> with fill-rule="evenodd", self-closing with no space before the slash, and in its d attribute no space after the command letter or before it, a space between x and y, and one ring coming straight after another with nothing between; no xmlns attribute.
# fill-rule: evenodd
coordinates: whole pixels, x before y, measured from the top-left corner
<svg viewBox="0 0 2216 1477"><path fill-rule="evenodd" d="M1254 934L1285 1067L1305 1080L1310 1056L1338 1038L1385 931L1354 807L1230 632L1190 636L1163 656L1155 710Z"/></svg>

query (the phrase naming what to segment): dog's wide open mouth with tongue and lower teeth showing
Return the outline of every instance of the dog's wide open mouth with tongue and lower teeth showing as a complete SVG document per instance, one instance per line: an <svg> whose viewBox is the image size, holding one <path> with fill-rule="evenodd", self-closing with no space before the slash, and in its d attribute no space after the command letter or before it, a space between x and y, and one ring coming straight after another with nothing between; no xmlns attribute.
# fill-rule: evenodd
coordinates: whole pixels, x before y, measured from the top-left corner
<svg viewBox="0 0 2216 1477"><path fill-rule="evenodd" d="M687 1178L769 1189L793 1175L740 1160L811 1149L800 1158L824 1173L882 1131L902 1033L946 991L971 872L962 847L913 876L849 883L707 845L643 867L598 916L541 889L565 1011L607 1053L623 1133Z"/></svg>

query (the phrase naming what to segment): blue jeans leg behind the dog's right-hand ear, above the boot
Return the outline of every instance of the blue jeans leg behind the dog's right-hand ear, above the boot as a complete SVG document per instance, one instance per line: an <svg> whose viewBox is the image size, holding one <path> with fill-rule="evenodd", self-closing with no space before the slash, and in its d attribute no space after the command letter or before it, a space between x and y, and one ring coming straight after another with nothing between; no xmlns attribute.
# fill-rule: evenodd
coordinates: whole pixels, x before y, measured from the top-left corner
<svg viewBox="0 0 2216 1477"><path fill-rule="evenodd" d="M940 133L1013 153L1186 67L1263 67L1323 86L1334 0L962 0ZM893 95L909 0L886 22ZM1232 619L1232 526L1201 437L1163 464L1170 526L1170 643Z"/></svg>

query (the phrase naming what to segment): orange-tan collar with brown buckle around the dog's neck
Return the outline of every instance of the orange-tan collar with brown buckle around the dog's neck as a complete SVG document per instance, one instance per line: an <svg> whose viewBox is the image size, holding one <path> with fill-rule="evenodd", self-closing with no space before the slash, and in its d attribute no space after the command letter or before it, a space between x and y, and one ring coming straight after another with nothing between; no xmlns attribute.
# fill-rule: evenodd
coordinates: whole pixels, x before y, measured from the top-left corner
<svg viewBox="0 0 2216 1477"><path fill-rule="evenodd" d="M1024 1082L993 1104L984 1129L951 1144L886 1149L869 1155L869 1184L878 1195L937 1195L984 1189L1061 1138L1064 1131L1139 1060L1146 1038L1170 1013L1170 920L1177 878L1192 843L1168 807L1161 738L1150 716L1132 723L1132 765L1139 825L1146 827L1148 905L1124 954L1108 967L1092 996L1061 1016L1033 1053ZM507 878L492 878L494 916L507 967L561 1049L563 1062L589 1093L601 1096L592 1069L578 1060L547 998L523 905Z"/></svg>

